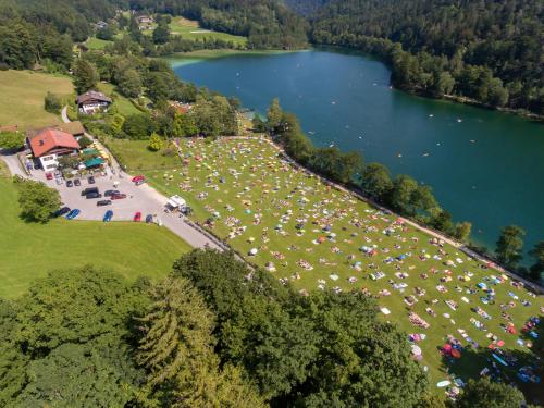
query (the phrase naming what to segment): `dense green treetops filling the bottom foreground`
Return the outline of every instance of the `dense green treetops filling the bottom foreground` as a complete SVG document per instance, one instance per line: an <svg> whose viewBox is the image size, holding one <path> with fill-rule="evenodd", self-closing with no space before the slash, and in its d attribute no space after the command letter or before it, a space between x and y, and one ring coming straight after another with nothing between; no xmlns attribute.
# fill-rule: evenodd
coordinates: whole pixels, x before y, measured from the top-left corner
<svg viewBox="0 0 544 408"><path fill-rule="evenodd" d="M376 312L361 293L304 297L214 251L182 257L157 283L51 272L0 300L0 405L443 406L405 335ZM523 401L508 385L472 388L459 406Z"/></svg>

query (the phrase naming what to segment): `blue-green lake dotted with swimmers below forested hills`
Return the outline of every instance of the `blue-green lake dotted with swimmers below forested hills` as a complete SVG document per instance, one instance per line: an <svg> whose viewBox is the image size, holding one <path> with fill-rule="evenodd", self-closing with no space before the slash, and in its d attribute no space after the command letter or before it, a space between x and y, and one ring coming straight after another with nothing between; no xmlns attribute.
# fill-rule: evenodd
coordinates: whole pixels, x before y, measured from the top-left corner
<svg viewBox="0 0 544 408"><path fill-rule="evenodd" d="M490 248L503 226L544 239L544 125L495 111L411 96L388 69L354 52L311 50L172 61L175 73L265 112L274 97L318 146L362 152L433 187L456 221ZM526 263L528 263L526 261Z"/></svg>

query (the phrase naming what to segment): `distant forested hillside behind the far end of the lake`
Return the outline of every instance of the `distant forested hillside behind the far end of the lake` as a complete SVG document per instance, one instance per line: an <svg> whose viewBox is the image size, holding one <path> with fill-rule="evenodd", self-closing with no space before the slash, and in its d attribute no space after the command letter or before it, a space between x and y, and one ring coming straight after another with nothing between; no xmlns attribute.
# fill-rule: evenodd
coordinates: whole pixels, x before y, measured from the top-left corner
<svg viewBox="0 0 544 408"><path fill-rule="evenodd" d="M248 37L250 48L300 48L306 21L275 0L131 0L136 10L183 15L203 27Z"/></svg>

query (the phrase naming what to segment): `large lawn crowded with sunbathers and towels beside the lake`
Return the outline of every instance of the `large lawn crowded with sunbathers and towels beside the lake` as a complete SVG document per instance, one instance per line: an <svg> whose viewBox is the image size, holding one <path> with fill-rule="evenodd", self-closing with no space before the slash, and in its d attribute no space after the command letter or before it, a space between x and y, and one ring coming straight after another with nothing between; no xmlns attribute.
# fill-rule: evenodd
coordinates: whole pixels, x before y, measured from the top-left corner
<svg viewBox="0 0 544 408"><path fill-rule="evenodd" d="M212 219L210 227L214 234L226 238L244 255L256 248L257 255L248 256L250 261L262 267L272 263L274 276L300 290L311 293L320 286L336 290L368 289L379 298L380 307L391 311L384 319L396 322L407 333L426 335L419 345L423 350L421 363L428 367L432 384L447 378L447 366L463 380L477 376L490 356L486 351L490 333L505 342L505 349L531 356L527 343L517 344L519 335L500 326L507 321L499 305L514 301L507 313L519 331L529 317L540 314L542 298L531 297L527 290L511 286L510 281L492 283L491 276L497 275L493 270L454 247L432 244L429 235L403 225L395 215L383 214L351 195L331 189L316 177L293 169L264 141L184 139L182 144L185 164L144 172L153 187L187 199L195 220ZM134 148L125 146L123 150L129 152L125 154L129 165L133 160L132 165L143 160L136 159ZM149 166L156 161L149 159ZM375 254L364 254L363 246L375 249ZM385 273L385 277L373 281L370 274L378 271ZM401 277L400 273L407 275ZM465 276L471 276L470 281L460 280ZM485 294L475 286L480 282L495 290L493 304L481 300ZM403 289L398 284L406 287ZM419 296L416 288L422 289ZM411 308L405 302L410 295L417 299ZM456 310L446 300L456 302ZM522 306L522 300L531 305ZM491 319L479 316L475 307ZM428 308L435 316L428 313ZM410 311L424 319L430 329L412 325L408 319ZM484 330L477 329L477 321ZM458 330L478 343L481 353L445 362L437 347L444 344L446 335L455 336L465 346L468 344Z"/></svg>

